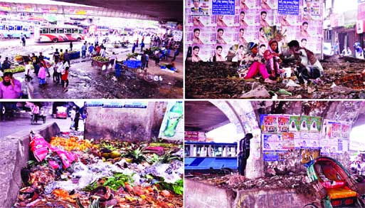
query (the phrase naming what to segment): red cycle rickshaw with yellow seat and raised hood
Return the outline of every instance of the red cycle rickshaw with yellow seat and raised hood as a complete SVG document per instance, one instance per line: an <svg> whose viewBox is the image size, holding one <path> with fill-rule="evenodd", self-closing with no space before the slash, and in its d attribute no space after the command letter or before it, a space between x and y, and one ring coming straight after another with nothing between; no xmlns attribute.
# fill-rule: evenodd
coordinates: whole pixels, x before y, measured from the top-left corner
<svg viewBox="0 0 365 208"><path fill-rule="evenodd" d="M317 191L317 202L303 208L364 208L349 172L331 157L318 157L307 167L307 175Z"/></svg>

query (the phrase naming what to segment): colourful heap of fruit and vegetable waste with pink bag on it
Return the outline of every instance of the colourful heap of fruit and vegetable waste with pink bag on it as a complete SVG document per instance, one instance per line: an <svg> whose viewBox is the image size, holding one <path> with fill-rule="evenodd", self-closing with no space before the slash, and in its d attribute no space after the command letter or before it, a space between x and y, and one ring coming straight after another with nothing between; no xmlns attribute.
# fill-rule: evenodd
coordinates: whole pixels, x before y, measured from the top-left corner
<svg viewBox="0 0 365 208"><path fill-rule="evenodd" d="M181 144L31 134L14 207L183 207Z"/></svg>

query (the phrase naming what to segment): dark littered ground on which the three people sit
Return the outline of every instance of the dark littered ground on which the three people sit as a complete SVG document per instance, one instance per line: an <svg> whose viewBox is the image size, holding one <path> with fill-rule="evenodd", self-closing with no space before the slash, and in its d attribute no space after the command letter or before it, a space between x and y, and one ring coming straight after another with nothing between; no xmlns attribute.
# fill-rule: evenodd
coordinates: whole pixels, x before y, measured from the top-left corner
<svg viewBox="0 0 365 208"><path fill-rule="evenodd" d="M329 56L321 63L324 76L299 85L293 74L270 84L261 76L239 78L238 63L186 62L186 98L365 98L364 60Z"/></svg>

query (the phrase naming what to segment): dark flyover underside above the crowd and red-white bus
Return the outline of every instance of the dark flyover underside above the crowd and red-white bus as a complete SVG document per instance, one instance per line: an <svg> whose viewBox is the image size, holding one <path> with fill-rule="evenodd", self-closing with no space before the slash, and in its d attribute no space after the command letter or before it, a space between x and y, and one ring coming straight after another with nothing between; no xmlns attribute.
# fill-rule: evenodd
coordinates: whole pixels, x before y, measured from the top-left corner
<svg viewBox="0 0 365 208"><path fill-rule="evenodd" d="M183 21L183 0L55 0L151 16L159 21Z"/></svg>

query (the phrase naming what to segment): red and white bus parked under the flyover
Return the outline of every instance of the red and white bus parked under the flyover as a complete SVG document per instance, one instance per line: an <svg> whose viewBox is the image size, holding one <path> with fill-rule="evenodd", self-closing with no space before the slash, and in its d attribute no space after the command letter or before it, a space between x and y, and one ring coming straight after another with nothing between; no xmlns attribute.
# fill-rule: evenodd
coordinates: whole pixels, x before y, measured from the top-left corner
<svg viewBox="0 0 365 208"><path fill-rule="evenodd" d="M70 26L40 26L34 30L36 42L81 41L85 39L83 29Z"/></svg>

